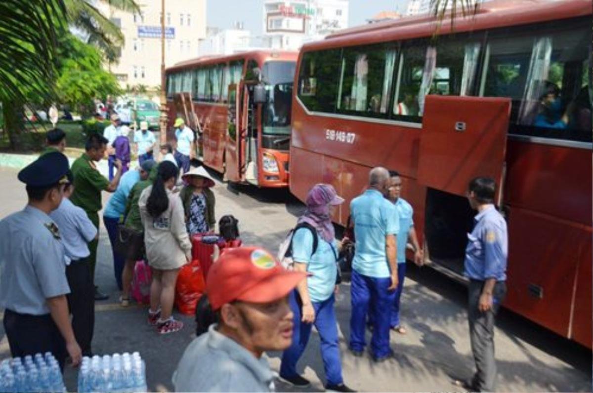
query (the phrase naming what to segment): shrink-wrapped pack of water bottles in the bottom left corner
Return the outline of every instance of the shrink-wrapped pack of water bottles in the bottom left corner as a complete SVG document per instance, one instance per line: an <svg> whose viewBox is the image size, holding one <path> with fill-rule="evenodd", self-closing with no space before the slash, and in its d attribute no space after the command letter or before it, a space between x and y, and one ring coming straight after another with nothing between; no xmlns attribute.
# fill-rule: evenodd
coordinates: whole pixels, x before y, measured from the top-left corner
<svg viewBox="0 0 593 393"><path fill-rule="evenodd" d="M14 357L0 363L0 392L65 391L58 360L50 352Z"/></svg>

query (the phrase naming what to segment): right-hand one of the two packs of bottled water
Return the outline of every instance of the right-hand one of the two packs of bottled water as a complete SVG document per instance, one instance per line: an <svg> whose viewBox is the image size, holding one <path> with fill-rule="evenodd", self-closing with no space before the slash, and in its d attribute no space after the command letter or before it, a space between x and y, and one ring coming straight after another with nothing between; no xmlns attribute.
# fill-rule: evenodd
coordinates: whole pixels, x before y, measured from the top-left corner
<svg viewBox="0 0 593 393"><path fill-rule="evenodd" d="M138 352L83 357L78 392L145 392L146 365Z"/></svg>

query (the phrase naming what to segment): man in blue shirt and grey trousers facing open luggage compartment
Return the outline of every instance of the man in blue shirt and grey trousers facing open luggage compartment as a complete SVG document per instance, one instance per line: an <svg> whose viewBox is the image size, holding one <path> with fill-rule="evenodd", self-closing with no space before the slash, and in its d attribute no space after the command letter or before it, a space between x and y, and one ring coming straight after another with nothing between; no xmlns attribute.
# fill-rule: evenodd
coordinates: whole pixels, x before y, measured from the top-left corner
<svg viewBox="0 0 593 393"><path fill-rule="evenodd" d="M493 391L496 380L494 358L495 315L506 295L508 235L505 219L494 206L496 183L491 178L470 181L467 198L478 211L476 225L467 234L465 274L470 279L467 315L471 352L476 373L466 387L471 391Z"/></svg>

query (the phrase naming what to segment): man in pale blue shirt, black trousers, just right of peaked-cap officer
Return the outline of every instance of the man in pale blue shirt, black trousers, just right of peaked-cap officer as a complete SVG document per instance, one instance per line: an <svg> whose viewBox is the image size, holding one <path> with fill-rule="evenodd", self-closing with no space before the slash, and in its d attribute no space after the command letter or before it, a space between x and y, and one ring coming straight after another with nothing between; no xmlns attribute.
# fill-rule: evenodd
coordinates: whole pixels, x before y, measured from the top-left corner
<svg viewBox="0 0 593 393"><path fill-rule="evenodd" d="M98 238L98 231L87 213L68 199L74 191L74 177L68 172L64 197L58 209L50 213L62 235L66 254L66 279L70 293L68 308L72 314L72 330L83 356L93 356L91 342L95 330L95 287L88 257L88 243Z"/></svg>

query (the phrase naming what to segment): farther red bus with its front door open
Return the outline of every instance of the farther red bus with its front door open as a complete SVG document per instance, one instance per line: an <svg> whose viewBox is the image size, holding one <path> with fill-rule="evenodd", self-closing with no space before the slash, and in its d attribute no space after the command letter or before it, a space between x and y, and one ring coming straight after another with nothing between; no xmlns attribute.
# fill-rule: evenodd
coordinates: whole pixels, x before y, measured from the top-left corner
<svg viewBox="0 0 593 393"><path fill-rule="evenodd" d="M196 158L229 181L288 187L296 62L296 52L254 51L168 68L169 128L183 117L199 136Z"/></svg>

